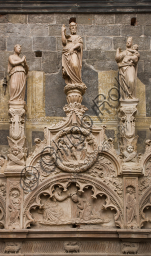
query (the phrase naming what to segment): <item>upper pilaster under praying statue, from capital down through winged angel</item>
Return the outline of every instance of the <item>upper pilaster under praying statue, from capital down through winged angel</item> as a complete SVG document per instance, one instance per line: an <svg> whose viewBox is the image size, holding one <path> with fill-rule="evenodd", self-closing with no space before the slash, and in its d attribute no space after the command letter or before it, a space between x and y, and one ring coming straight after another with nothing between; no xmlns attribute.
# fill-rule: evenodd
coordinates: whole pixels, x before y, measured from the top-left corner
<svg viewBox="0 0 151 256"><path fill-rule="evenodd" d="M5 174L9 171L20 173L26 160L26 137L24 136L24 115L26 113L25 101L9 101L9 150ZM7 173L8 174L8 173Z"/></svg>

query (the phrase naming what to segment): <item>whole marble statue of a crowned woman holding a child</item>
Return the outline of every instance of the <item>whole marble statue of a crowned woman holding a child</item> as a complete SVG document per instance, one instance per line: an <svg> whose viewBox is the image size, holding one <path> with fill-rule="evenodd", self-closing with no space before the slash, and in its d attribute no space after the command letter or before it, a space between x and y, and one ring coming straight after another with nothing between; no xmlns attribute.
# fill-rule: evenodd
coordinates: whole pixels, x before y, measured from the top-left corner
<svg viewBox="0 0 151 256"><path fill-rule="evenodd" d="M124 51L121 51L120 47L116 50L115 60L119 68L120 97L123 99L136 98L137 63L140 57L137 50L137 44L132 46L131 36L127 39Z"/></svg>

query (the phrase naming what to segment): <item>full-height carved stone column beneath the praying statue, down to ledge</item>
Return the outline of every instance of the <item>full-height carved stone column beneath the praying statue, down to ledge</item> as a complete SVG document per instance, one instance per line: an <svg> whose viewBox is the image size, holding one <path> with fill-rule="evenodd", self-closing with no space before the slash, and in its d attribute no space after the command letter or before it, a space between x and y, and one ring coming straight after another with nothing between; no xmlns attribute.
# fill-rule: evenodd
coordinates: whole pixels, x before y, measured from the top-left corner
<svg viewBox="0 0 151 256"><path fill-rule="evenodd" d="M27 111L25 101L9 101L9 137L6 181L6 228L22 228L23 187L21 175L26 161L26 137L24 136L24 115Z"/></svg>

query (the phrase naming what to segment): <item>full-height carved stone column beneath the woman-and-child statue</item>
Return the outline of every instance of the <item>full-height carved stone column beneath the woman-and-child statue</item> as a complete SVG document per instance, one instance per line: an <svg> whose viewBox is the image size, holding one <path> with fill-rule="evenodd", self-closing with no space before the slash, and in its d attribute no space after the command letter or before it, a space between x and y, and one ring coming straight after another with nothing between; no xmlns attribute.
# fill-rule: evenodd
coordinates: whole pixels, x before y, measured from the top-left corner
<svg viewBox="0 0 151 256"><path fill-rule="evenodd" d="M137 157L137 139L135 136L135 114L139 99L119 99L117 107L120 130L120 158L123 177L124 227L138 228L138 175L142 168ZM129 177L130 176L130 177Z"/></svg>

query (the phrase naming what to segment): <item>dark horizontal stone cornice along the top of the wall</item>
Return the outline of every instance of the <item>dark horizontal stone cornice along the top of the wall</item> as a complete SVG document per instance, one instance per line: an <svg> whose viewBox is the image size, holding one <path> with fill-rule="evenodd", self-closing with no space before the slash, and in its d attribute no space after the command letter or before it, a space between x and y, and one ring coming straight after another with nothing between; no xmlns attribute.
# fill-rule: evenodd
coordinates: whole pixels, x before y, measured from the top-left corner
<svg viewBox="0 0 151 256"><path fill-rule="evenodd" d="M149 0L0 0L0 13L151 12Z"/></svg>

